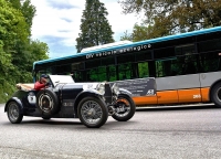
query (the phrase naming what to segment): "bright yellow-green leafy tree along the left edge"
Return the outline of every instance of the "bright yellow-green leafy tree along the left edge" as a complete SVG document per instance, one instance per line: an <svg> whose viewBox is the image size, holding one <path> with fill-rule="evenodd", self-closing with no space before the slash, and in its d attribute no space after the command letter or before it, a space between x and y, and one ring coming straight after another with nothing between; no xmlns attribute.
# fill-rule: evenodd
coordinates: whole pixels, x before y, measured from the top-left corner
<svg viewBox="0 0 221 159"><path fill-rule="evenodd" d="M13 9L10 2L0 0L0 103L7 99L6 94L11 94L14 89L15 67L11 63L13 45L18 39L25 41L25 29L22 13Z"/></svg>

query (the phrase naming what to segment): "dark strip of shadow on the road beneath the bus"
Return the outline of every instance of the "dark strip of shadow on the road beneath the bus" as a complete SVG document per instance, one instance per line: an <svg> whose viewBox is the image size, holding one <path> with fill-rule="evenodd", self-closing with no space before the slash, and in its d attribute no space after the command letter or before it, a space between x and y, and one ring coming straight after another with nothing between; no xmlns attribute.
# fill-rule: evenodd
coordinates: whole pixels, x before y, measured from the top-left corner
<svg viewBox="0 0 221 159"><path fill-rule="evenodd" d="M137 107L136 112L168 112L168 110L192 110L192 109L220 109L211 105L179 105L179 106L156 106L156 107Z"/></svg>

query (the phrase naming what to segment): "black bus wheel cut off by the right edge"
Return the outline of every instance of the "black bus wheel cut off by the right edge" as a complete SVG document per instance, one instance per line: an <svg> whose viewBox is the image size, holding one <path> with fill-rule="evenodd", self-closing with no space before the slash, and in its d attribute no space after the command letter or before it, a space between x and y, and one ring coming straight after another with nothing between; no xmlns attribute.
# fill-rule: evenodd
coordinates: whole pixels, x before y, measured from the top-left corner
<svg viewBox="0 0 221 159"><path fill-rule="evenodd" d="M215 84L211 91L211 100L221 108L221 83Z"/></svg>

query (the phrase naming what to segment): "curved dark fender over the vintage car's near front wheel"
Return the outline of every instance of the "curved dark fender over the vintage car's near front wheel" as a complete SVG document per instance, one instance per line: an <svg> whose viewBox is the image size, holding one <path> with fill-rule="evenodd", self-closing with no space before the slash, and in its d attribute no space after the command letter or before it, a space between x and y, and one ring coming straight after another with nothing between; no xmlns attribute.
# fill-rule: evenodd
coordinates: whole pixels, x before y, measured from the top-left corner
<svg viewBox="0 0 221 159"><path fill-rule="evenodd" d="M81 92L76 96L75 102L74 102L74 112L76 113L76 117L78 117L77 116L77 106L78 106L78 103L81 102L82 98L84 98L86 96L93 96L93 97L96 97L96 98L98 98L101 100L104 100L102 98L102 94L98 91L96 91L96 89L85 89L85 91Z"/></svg>

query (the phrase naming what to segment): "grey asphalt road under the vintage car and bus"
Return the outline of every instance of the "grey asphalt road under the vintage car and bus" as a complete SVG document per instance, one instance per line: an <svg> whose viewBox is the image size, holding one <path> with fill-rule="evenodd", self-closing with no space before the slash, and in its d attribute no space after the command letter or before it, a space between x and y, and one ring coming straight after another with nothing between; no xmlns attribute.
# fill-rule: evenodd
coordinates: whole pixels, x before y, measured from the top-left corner
<svg viewBox="0 0 221 159"><path fill-rule="evenodd" d="M220 159L221 108L148 108L98 129L78 119L24 117L12 125L0 105L2 159Z"/></svg>

